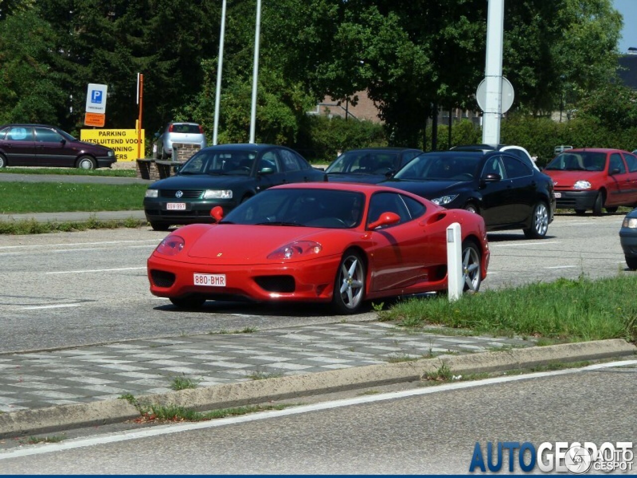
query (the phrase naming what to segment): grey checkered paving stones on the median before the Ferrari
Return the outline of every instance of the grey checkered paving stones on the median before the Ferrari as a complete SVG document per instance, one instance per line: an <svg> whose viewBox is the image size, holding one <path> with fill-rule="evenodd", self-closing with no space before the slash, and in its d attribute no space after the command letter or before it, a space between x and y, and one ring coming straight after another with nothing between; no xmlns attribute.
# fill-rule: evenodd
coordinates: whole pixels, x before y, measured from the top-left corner
<svg viewBox="0 0 637 478"><path fill-rule="evenodd" d="M529 347L529 340L414 333L388 322L131 340L0 354L0 411L171 391L176 377L214 386L435 354Z"/></svg>

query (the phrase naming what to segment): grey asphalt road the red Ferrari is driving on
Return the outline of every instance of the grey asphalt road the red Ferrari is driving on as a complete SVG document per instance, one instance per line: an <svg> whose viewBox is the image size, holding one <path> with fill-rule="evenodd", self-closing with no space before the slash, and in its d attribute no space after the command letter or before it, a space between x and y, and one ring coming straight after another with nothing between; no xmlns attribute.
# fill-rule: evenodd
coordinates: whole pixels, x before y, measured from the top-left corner
<svg viewBox="0 0 637 478"><path fill-rule="evenodd" d="M623 215L559 215L545 240L522 231L492 233L483 289L624 272ZM208 302L178 311L148 292L146 259L166 233L150 228L0 236L0 352L166 337L220 330L259 330L340 321L314 305ZM348 321L369 320L368 308Z"/></svg>

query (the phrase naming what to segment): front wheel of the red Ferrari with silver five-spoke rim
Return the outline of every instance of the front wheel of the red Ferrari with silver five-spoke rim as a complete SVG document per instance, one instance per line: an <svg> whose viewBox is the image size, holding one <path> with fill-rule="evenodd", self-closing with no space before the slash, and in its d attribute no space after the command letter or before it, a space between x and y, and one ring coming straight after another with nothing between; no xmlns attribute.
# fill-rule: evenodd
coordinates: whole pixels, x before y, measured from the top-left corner
<svg viewBox="0 0 637 478"><path fill-rule="evenodd" d="M336 270L332 294L332 305L338 314L355 314L361 309L365 279L365 263L361 254L354 250L346 251Z"/></svg>

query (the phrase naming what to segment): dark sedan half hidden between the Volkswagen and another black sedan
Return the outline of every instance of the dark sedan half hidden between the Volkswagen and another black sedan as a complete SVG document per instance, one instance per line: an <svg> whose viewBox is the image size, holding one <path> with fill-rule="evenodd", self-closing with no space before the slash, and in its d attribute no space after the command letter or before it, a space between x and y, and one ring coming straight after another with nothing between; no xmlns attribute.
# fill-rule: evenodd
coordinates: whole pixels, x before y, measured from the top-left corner
<svg viewBox="0 0 637 478"><path fill-rule="evenodd" d="M352 149L336 158L325 172L329 181L376 184L421 153L413 148Z"/></svg>

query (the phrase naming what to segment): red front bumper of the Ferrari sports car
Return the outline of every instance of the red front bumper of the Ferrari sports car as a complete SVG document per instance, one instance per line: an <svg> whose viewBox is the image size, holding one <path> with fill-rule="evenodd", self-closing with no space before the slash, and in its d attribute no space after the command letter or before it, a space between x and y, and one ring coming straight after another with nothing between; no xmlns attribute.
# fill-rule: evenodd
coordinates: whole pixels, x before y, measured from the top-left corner
<svg viewBox="0 0 637 478"><path fill-rule="evenodd" d="M209 300L327 302L332 299L340 257L296 263L223 265L192 264L154 253L148 258L150 292L180 298L197 295ZM194 274L224 274L225 286L199 286Z"/></svg>

